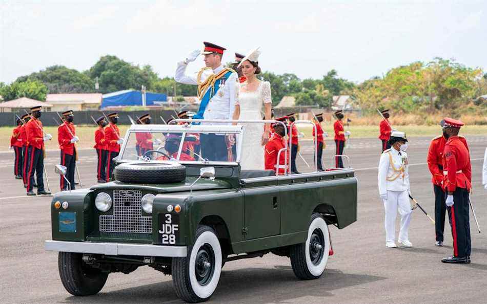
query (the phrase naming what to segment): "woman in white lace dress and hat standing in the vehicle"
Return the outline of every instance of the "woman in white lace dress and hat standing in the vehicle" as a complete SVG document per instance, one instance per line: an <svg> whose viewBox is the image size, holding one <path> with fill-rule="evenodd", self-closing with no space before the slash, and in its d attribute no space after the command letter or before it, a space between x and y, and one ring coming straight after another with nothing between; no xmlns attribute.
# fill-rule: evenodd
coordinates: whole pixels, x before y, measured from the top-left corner
<svg viewBox="0 0 487 304"><path fill-rule="evenodd" d="M261 113L264 118L271 119L271 84L261 81L256 75L260 73L259 48L251 51L242 59L239 67L242 68L246 80L240 83L238 103L235 105L233 119L260 120ZM262 111L263 107L263 111ZM243 170L263 170L264 146L269 140L269 124L247 123L244 125L240 166Z"/></svg>

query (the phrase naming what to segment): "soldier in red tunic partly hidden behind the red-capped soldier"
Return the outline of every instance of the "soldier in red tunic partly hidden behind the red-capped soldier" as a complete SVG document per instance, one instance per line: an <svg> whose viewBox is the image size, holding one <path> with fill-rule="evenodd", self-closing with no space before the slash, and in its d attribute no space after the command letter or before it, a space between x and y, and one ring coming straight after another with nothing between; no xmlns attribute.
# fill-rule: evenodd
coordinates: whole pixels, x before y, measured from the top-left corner
<svg viewBox="0 0 487 304"><path fill-rule="evenodd" d="M444 126L444 120L440 121L441 127ZM464 137L458 136L458 139L463 142L468 149L469 146L466 143ZM435 235L436 246L443 246L443 231L445 226L445 213L447 212L447 206L445 205L445 192L443 191L443 150L447 143L447 137L445 130L443 134L433 138L428 149L428 168L430 169L433 183L433 192L435 193ZM451 214L448 214L451 219Z"/></svg>

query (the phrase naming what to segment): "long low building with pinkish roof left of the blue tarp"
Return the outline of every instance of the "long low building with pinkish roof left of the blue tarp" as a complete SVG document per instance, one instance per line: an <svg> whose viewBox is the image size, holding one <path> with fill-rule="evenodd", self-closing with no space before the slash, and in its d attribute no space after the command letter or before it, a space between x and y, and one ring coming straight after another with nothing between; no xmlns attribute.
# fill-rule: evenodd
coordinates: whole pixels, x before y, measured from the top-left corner
<svg viewBox="0 0 487 304"><path fill-rule="evenodd" d="M99 110L102 94L47 94L46 101L52 103L52 111L63 112Z"/></svg>

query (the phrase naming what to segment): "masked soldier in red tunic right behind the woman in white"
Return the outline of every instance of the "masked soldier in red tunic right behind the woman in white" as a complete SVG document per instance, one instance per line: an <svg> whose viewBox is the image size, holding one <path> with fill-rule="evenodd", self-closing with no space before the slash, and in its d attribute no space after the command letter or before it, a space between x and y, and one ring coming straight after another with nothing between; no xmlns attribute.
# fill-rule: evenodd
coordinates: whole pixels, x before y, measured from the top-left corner
<svg viewBox="0 0 487 304"><path fill-rule="evenodd" d="M286 117L277 118L278 121L286 121ZM279 175L283 175L286 173L286 166L285 161L286 157L289 158L289 148L284 138L285 129L281 123L275 122L272 125L274 129L274 134L269 139L266 144L265 152L264 152L264 163L266 170L273 170L276 172L276 169L279 169ZM277 164L277 154L279 153L280 149L285 149L281 151L279 154L279 164ZM287 151L287 153L286 153Z"/></svg>

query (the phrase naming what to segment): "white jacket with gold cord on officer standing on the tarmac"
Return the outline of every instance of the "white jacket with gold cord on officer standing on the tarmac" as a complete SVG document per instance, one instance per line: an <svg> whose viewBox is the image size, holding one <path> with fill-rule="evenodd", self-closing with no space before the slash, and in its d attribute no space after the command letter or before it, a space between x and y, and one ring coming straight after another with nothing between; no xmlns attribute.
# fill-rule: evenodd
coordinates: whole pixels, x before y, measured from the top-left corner
<svg viewBox="0 0 487 304"><path fill-rule="evenodd" d="M388 190L409 190L408 167L408 155L404 151L395 148L383 151L379 161L379 195L386 194Z"/></svg>

